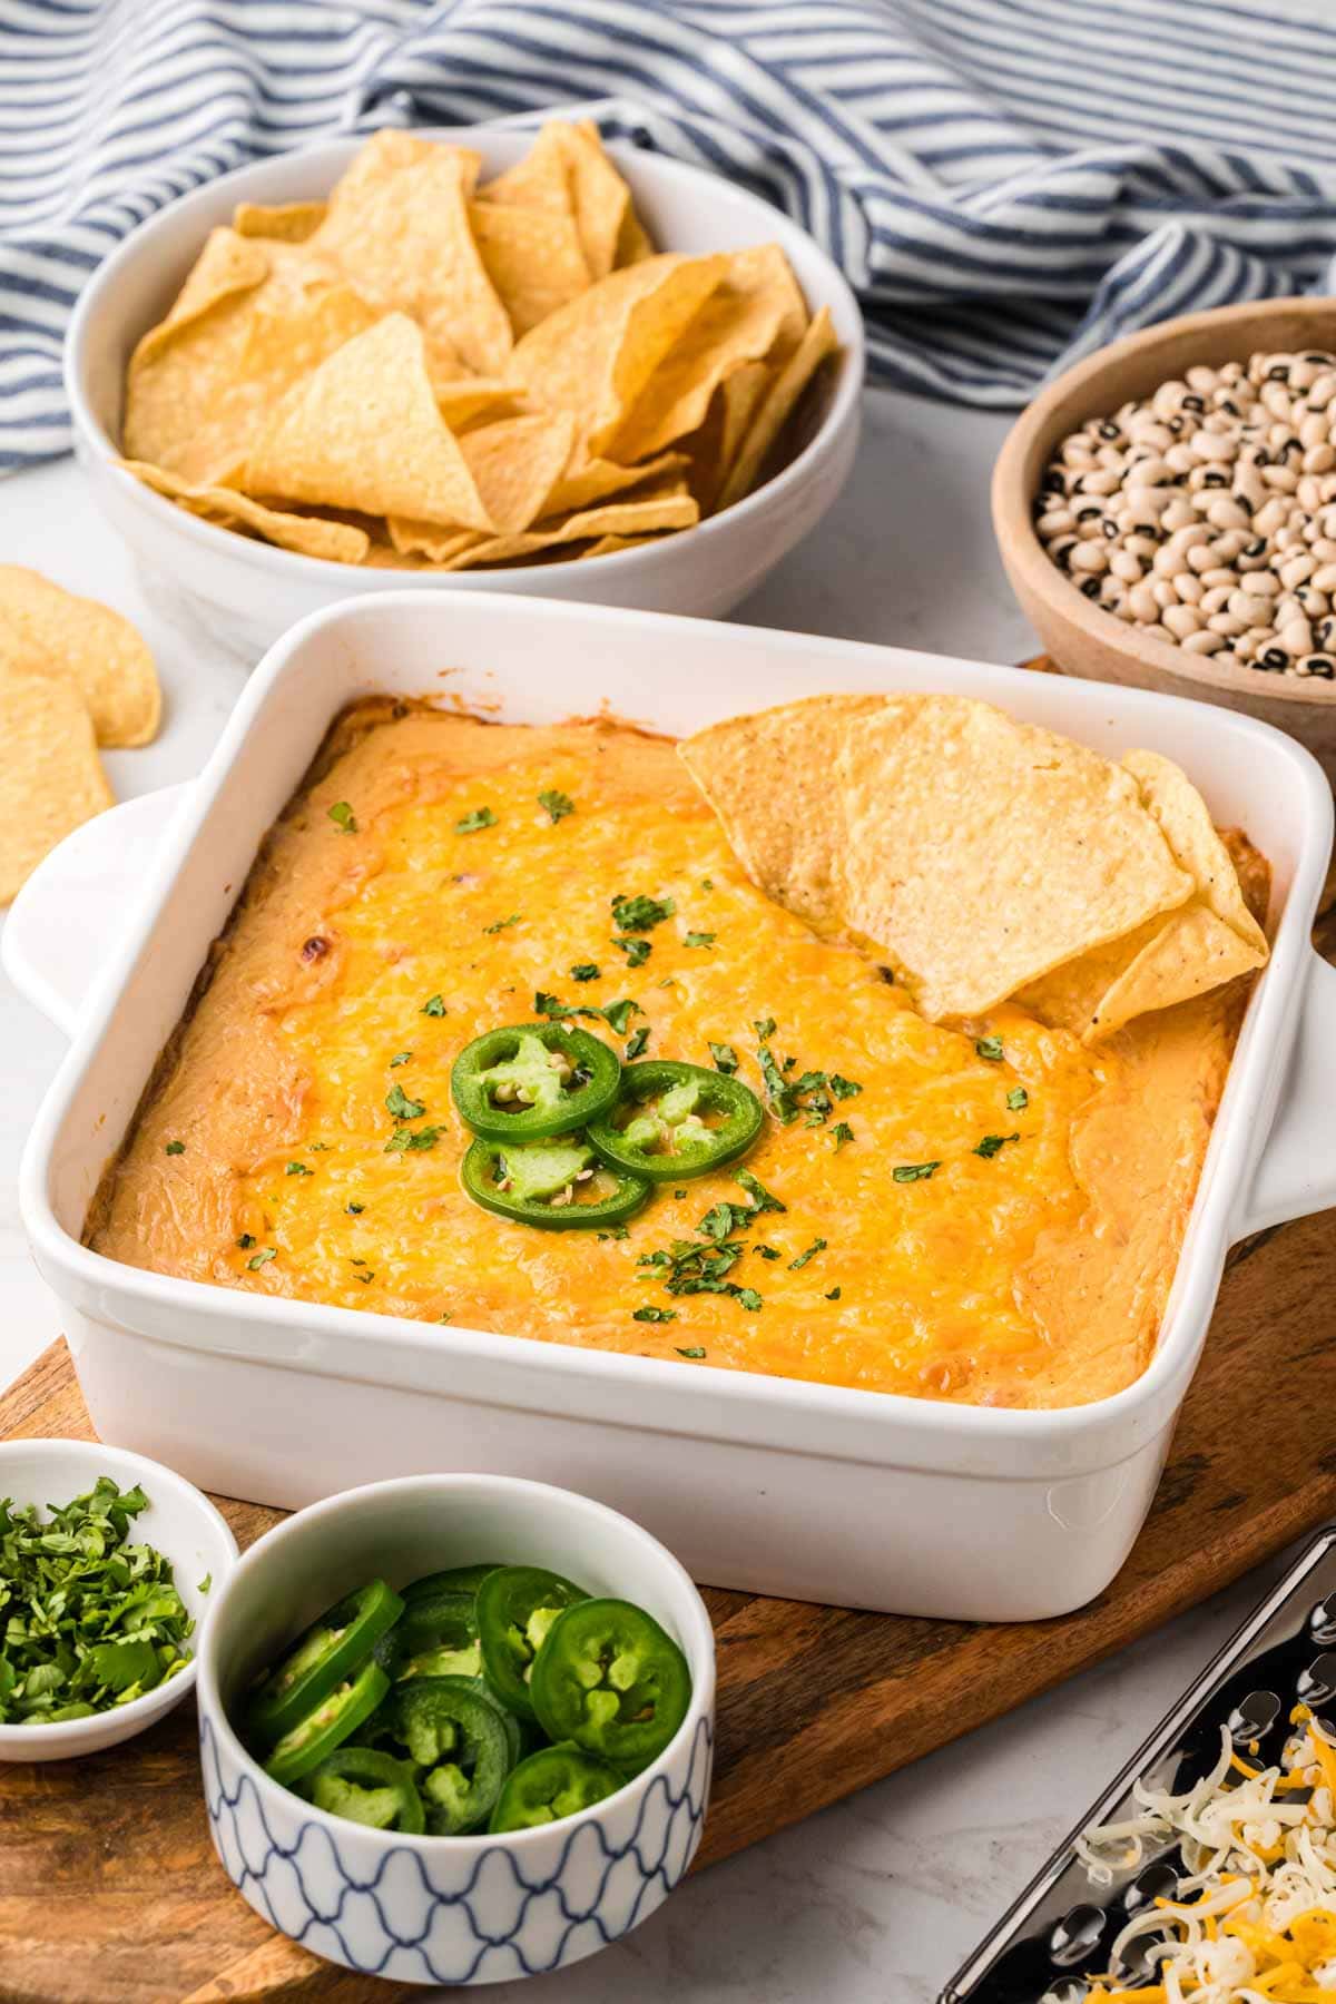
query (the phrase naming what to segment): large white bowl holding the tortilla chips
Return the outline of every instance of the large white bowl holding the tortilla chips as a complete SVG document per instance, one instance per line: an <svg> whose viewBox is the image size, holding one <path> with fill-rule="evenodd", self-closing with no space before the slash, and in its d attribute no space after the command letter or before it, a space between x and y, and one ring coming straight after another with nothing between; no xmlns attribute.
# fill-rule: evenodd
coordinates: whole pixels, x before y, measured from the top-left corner
<svg viewBox="0 0 1336 2004"><path fill-rule="evenodd" d="M519 160L533 132L499 126L433 126L427 138L475 146L483 174ZM74 451L98 507L130 549L210 637L258 655L306 613L361 591L529 593L659 613L725 613L815 527L853 465L861 421L863 321L843 275L813 238L769 202L677 160L613 144L637 210L665 250L703 255L777 242L807 305L829 307L843 353L817 383L811 435L763 487L695 529L659 537L591 563L543 563L503 571L365 569L300 557L198 521L150 493L116 461L126 363L138 337L162 319L208 230L236 202L292 202L328 194L361 140L330 140L222 174L142 222L98 269L70 321L64 381L74 413ZM447 629L449 631L449 629Z"/></svg>

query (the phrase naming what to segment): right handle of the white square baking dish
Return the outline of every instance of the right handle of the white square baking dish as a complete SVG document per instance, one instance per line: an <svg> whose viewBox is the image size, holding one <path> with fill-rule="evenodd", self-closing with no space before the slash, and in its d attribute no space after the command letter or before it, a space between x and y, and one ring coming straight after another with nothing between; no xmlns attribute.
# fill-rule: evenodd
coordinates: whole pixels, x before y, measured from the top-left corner
<svg viewBox="0 0 1336 2004"><path fill-rule="evenodd" d="M1336 1204L1336 968L1312 956L1290 1068L1234 1238Z"/></svg>

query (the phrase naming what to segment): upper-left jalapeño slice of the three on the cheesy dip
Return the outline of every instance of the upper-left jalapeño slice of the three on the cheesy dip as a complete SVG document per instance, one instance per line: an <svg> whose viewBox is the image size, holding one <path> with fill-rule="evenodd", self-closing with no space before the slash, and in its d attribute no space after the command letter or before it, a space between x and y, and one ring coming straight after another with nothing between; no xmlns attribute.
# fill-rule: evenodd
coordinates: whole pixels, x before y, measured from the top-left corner
<svg viewBox="0 0 1336 2004"><path fill-rule="evenodd" d="M617 1098L621 1058L587 1030L527 1022L487 1030L455 1058L461 1118L489 1140L545 1140L585 1126Z"/></svg>

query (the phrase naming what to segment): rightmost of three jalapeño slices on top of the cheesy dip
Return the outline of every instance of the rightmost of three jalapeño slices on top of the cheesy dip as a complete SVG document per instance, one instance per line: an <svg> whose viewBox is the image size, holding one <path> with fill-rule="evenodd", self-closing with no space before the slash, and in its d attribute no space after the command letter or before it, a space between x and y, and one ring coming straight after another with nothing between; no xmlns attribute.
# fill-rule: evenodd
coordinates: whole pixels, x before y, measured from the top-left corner
<svg viewBox="0 0 1336 2004"><path fill-rule="evenodd" d="M761 1102L741 1078L649 1058L623 1070L617 1106L585 1132L599 1158L623 1176L675 1182L735 1162L763 1120Z"/></svg>

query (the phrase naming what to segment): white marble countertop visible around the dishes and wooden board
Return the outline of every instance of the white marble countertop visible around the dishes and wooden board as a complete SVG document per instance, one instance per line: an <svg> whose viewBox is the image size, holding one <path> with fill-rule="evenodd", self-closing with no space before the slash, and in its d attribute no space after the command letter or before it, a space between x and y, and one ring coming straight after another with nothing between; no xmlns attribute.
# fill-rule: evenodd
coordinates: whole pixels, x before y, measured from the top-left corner
<svg viewBox="0 0 1336 2004"><path fill-rule="evenodd" d="M1006 419L869 399L853 479L817 533L737 613L757 625L899 641L987 661L1036 649L987 521ZM166 727L112 754L126 798L188 778L240 689L208 635L166 623L72 465L0 485L0 557L140 623ZM62 1048L0 978L0 1383L58 1333L18 1222L18 1156ZM545 2004L919 2004L993 1924L1098 1788L1278 1575L1282 1561L1160 1635L823 1816L689 1880L641 1930L535 1984ZM785 1778L775 1774L775 1792ZM0 1870L0 1892L4 1890Z"/></svg>

